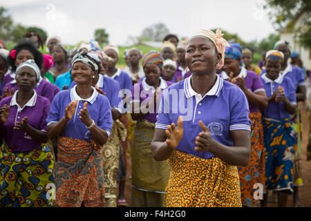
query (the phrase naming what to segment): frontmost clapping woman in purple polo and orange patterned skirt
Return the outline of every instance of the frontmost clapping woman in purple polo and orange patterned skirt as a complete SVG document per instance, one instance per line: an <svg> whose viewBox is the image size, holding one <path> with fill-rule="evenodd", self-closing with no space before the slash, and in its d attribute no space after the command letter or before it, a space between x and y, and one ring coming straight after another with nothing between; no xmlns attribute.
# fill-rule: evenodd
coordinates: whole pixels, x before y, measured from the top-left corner
<svg viewBox="0 0 311 221"><path fill-rule="evenodd" d="M249 110L243 91L216 74L225 46L220 28L192 35L192 75L162 95L151 149L171 166L167 206L241 206L236 166L249 161Z"/></svg>

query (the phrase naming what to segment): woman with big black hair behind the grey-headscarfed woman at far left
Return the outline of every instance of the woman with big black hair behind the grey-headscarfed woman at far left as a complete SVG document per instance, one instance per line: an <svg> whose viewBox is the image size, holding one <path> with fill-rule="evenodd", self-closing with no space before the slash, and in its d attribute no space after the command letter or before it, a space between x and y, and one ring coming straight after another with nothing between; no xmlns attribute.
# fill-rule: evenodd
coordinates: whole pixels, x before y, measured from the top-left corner
<svg viewBox="0 0 311 221"><path fill-rule="evenodd" d="M26 41L18 44L15 48L16 49L11 50L8 58L8 64L10 64L10 67L14 72L17 66L27 59L34 59L37 66L41 68L44 63L43 55L37 50L37 48L35 48L35 46ZM41 75L34 89L38 95L48 98L50 103L53 102L55 95L60 91L57 86L50 84L50 82L43 79ZM3 86L2 95L3 97L6 97L7 94L10 95L11 91L15 90L17 90L17 83L14 79Z"/></svg>

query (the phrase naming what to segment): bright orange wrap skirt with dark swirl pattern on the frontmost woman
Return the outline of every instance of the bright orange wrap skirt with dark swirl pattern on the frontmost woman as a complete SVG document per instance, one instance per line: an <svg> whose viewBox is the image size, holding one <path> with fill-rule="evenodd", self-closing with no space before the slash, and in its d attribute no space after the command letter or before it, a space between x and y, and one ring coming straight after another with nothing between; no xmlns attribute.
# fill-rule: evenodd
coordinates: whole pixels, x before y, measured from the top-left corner
<svg viewBox="0 0 311 221"><path fill-rule="evenodd" d="M202 159L174 150L169 157L171 174L167 207L241 207L236 166L218 157Z"/></svg>

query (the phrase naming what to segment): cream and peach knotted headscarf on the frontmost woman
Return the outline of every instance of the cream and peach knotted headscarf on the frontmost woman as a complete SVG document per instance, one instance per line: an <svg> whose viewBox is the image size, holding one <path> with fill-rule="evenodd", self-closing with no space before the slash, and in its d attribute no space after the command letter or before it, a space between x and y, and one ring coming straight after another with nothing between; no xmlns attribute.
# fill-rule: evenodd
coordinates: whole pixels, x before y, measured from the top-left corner
<svg viewBox="0 0 311 221"><path fill-rule="evenodd" d="M221 60L218 62L216 68L220 69L223 67L223 64L225 63L225 46L229 46L228 42L223 38L223 34L221 33L221 28L218 28L216 30L216 33L212 32L211 30L199 30L196 32L196 34L192 35L190 39L197 37L197 36L204 36L213 41L213 43L216 46L216 50L221 55Z"/></svg>

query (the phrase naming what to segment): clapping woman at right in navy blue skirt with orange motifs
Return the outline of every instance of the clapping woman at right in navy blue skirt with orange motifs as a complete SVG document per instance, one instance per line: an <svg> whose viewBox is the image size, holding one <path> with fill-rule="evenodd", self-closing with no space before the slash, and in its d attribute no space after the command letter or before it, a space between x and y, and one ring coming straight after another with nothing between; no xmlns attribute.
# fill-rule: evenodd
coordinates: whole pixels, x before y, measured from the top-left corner
<svg viewBox="0 0 311 221"><path fill-rule="evenodd" d="M284 55L270 50L265 57L265 70L261 81L267 93L268 106L263 111L265 143L265 188L276 191L278 206L286 206L289 193L293 192L293 161L296 136L290 117L296 111L294 84L289 77L281 75ZM267 193L264 194L266 206Z"/></svg>

